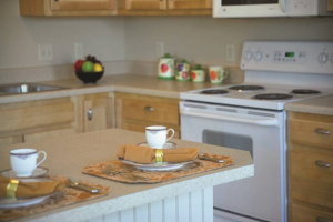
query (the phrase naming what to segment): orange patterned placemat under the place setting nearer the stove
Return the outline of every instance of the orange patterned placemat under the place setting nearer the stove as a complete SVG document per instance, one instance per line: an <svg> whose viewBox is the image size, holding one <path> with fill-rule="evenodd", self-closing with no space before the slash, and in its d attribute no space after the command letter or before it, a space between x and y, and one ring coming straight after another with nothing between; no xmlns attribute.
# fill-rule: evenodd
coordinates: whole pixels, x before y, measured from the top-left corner
<svg viewBox="0 0 333 222"><path fill-rule="evenodd" d="M223 159L224 163L214 163L205 160L195 160L194 162L189 163L185 167L173 171L143 171L132 165L122 163L119 160L111 160L100 164L87 167L83 169L82 172L89 175L104 178L104 179L123 182L123 183L160 183L160 182L170 181L170 180L174 180L188 175L216 170L220 168L225 168L233 164L233 160L231 157L224 157L224 155L211 155L211 157ZM124 171L125 173L130 173L130 174L132 173L135 175L149 178L149 180L133 181L127 179L127 176L123 176L122 174L107 175L103 173L105 167L108 168L111 167L115 171Z"/></svg>

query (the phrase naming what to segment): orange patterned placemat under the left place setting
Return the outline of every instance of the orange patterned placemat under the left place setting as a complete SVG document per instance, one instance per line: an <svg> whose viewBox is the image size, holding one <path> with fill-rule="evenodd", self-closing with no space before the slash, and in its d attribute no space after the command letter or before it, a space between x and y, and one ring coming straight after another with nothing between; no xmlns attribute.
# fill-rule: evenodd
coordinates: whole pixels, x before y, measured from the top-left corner
<svg viewBox="0 0 333 222"><path fill-rule="evenodd" d="M52 179L61 180L67 183L68 178L65 176L53 176ZM81 181L84 184L91 185L95 189L100 189L101 192L98 194L91 194L85 191L80 191L77 189L64 188L63 191L59 192L59 194L47 199L46 201L30 206L14 208L14 209L0 209L0 221L8 221L13 219L19 219L22 216L37 214L46 211L50 211L53 209L62 208L65 205L80 203L82 201L100 198L107 195L109 193L110 188L105 188L102 185L98 185L94 183L88 183Z"/></svg>

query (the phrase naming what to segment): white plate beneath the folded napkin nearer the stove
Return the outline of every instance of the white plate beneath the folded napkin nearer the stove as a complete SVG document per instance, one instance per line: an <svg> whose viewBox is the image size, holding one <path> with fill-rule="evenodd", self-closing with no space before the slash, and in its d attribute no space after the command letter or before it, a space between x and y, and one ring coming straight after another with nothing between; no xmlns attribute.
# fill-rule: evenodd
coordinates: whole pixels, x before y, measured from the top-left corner
<svg viewBox="0 0 333 222"><path fill-rule="evenodd" d="M132 165L134 168L138 168L140 170L145 170L145 171L170 171L170 170L176 170L180 169L189 163L192 163L194 161L189 161L189 162L183 162L183 163L168 163L168 162L162 162L162 163L151 163L151 164L143 164L143 163L135 163L132 161L119 159L122 163L125 163L128 165Z"/></svg>

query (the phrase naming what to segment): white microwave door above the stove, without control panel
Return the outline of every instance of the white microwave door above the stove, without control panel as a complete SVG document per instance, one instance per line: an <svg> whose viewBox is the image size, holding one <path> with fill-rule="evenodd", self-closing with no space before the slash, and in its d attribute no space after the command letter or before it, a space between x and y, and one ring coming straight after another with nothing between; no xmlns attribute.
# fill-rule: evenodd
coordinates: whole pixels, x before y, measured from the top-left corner
<svg viewBox="0 0 333 222"><path fill-rule="evenodd" d="M287 17L290 0L213 0L214 18Z"/></svg>

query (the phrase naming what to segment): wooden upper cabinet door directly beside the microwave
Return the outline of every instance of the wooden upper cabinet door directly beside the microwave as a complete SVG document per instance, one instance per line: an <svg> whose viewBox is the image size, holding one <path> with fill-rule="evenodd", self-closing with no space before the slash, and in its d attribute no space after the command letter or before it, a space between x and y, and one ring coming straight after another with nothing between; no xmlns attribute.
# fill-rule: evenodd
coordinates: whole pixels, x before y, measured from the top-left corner
<svg viewBox="0 0 333 222"><path fill-rule="evenodd" d="M168 0L169 9L211 9L212 0Z"/></svg>

